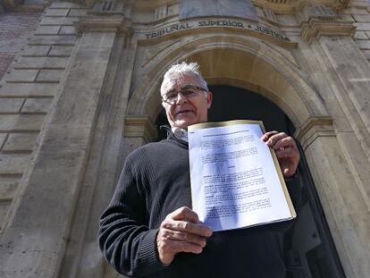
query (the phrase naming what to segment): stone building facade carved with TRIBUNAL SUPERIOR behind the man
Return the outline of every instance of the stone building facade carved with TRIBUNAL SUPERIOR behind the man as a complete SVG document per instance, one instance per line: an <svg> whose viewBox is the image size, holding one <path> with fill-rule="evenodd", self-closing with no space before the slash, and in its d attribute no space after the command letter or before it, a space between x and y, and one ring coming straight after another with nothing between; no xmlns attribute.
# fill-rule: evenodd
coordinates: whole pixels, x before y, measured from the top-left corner
<svg viewBox="0 0 370 278"><path fill-rule="evenodd" d="M0 81L0 277L118 276L97 247L97 219L124 158L156 140L161 78L182 60L200 63L214 88L281 109L307 161L332 268L368 277L369 2L0 2L0 22L42 12ZM307 265L291 277L321 277Z"/></svg>

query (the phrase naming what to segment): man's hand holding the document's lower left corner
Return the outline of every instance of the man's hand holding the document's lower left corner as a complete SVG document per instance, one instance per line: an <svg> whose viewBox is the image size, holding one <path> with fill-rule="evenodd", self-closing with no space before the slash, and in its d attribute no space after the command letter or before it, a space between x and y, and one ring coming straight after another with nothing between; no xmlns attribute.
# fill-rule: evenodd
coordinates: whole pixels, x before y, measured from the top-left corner
<svg viewBox="0 0 370 278"><path fill-rule="evenodd" d="M189 207L182 206L167 215L156 236L159 259L164 265L172 263L179 252L199 254L206 246L212 230L199 221Z"/></svg>

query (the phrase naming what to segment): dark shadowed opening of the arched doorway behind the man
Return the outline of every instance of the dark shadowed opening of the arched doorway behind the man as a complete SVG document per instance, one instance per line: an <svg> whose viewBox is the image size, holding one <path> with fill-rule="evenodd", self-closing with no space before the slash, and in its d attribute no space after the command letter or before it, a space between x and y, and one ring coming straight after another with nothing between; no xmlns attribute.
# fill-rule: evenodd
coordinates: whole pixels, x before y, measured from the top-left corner
<svg viewBox="0 0 370 278"><path fill-rule="evenodd" d="M214 94L214 101L208 113L208 121L239 119L263 121L266 131L284 131L294 136L296 129L289 117L265 97L231 86L214 85L209 88ZM163 124L168 124L164 110L156 119L158 140L165 137L165 132L159 129ZM300 174L289 183L290 195L295 195L292 199L298 217L289 228L276 230L276 237L280 241L280 253L287 267L286 277L345 277L304 152L300 146L299 148Z"/></svg>

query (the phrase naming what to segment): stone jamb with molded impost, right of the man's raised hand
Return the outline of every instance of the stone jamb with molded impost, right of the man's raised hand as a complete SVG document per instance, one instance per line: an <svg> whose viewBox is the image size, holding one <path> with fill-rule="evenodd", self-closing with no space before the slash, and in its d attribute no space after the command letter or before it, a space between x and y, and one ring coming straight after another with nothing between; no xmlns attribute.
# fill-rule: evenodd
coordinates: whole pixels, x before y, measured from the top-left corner
<svg viewBox="0 0 370 278"><path fill-rule="evenodd" d="M296 136L305 149L344 271L347 277L366 278L370 270L370 204L343 146L343 140L351 139L336 134L328 117L309 119Z"/></svg>

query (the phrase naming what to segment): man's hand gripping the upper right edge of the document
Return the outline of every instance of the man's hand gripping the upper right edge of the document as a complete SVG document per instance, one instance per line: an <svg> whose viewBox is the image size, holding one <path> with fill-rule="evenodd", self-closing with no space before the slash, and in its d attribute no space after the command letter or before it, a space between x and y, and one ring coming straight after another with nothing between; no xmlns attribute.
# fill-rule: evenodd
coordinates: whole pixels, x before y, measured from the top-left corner
<svg viewBox="0 0 370 278"><path fill-rule="evenodd" d="M261 139L275 151L284 178L290 178L297 170L300 157L295 140L278 131L266 132Z"/></svg>

